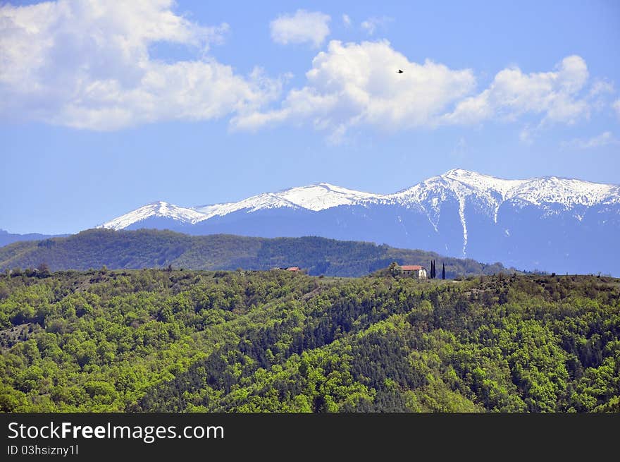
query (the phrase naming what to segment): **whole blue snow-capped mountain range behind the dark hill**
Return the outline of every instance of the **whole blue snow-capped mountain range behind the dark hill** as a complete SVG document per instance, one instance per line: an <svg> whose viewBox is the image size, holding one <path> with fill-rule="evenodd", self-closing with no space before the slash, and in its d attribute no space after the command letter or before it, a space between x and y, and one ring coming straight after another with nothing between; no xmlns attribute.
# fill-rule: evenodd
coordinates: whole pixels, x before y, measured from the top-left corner
<svg viewBox="0 0 620 462"><path fill-rule="evenodd" d="M523 269L620 274L620 263L611 262L620 256L620 186L555 176L506 180L454 169L387 195L319 183L199 207L155 202L100 227L314 235Z"/></svg>

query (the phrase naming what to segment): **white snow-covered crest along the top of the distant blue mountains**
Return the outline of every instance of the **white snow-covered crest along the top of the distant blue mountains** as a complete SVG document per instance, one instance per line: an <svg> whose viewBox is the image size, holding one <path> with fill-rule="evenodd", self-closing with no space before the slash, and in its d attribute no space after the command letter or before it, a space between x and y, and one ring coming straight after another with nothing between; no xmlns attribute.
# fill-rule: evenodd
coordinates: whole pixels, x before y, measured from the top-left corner
<svg viewBox="0 0 620 462"><path fill-rule="evenodd" d="M540 185L540 183L545 182L550 184L532 188L532 183ZM529 188L523 190L524 186L529 186ZM550 192L550 189L554 190L559 187L562 187L563 194L553 195ZM590 194L587 194L586 188L589 188ZM575 207L576 205L591 206L604 202L607 199L611 199L614 203L620 203L620 186L617 185L593 183L591 181L559 176L509 180L464 169L452 169L440 176L427 178L414 186L385 195L342 188L330 183L315 183L309 186L287 188L275 193L261 193L237 202L223 202L196 207L180 207L160 200L132 210L116 219L106 221L104 224L97 226L97 228L108 228L118 231L149 217L171 217L183 223L197 224L200 221L216 216L225 216L240 210L247 210L248 213L252 213L261 209L279 207L299 207L313 212L320 212L342 205L420 205L430 193L435 192L441 195L442 192L445 192L442 189L449 190L457 195L459 202L464 201L463 195L467 196L477 193L477 195L482 196L478 197L478 199L481 198L486 202L490 202L488 205L492 205L492 208L495 210L494 219L496 222L497 209L499 209L501 203L512 199L524 200L535 205L540 205L541 203L560 204L564 205L564 207ZM546 192L546 195L540 194L541 189ZM325 194L325 191L328 193ZM495 199L492 193L500 193L501 201ZM445 195L441 196L443 199L446 198ZM574 200L571 201L571 199ZM152 210L150 212L144 213L147 207L156 204L159 204L159 209L156 210L154 207L151 207ZM171 206L171 212L167 212L168 205ZM182 211L182 213L175 214L175 211ZM431 222L433 221L431 220Z"/></svg>

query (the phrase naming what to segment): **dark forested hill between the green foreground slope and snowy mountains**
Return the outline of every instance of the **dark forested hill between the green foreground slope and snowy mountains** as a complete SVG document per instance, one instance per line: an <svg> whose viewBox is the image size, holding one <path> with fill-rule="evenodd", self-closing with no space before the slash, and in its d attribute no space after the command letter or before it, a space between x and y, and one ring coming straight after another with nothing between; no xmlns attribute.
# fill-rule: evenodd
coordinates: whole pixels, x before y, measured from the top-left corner
<svg viewBox="0 0 620 462"><path fill-rule="evenodd" d="M475 260L442 257L423 250L402 250L334 239L250 238L216 234L187 236L172 231L141 229L111 231L92 229L66 238L20 242L0 248L0 270L36 268L45 263L51 271L91 269L174 268L184 269L271 269L297 266L309 274L362 276L401 265L446 265L448 277L494 274L506 269L500 264L485 265Z"/></svg>

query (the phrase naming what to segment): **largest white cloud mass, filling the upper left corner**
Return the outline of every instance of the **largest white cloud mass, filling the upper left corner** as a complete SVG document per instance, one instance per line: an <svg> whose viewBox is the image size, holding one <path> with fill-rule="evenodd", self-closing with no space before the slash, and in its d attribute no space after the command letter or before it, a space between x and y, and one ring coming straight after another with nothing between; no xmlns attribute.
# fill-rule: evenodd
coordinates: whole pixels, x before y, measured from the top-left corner
<svg viewBox="0 0 620 462"><path fill-rule="evenodd" d="M242 114L278 95L277 80L259 70L236 75L206 55L228 25L203 27L172 7L172 0L0 6L0 116L113 130ZM158 42L202 57L151 59Z"/></svg>

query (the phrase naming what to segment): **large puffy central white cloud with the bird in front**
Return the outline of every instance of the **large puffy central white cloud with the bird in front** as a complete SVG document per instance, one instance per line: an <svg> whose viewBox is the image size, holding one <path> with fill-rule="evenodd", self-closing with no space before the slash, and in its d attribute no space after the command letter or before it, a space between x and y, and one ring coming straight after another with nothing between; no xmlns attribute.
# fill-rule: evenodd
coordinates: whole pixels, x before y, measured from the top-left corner
<svg viewBox="0 0 620 462"><path fill-rule="evenodd" d="M402 69L404 73L397 73ZM398 130L433 126L454 102L473 90L469 69L411 62L387 41L347 43L333 40L306 73L307 84L290 90L279 109L242 114L240 129L290 121L343 135L354 126Z"/></svg>

